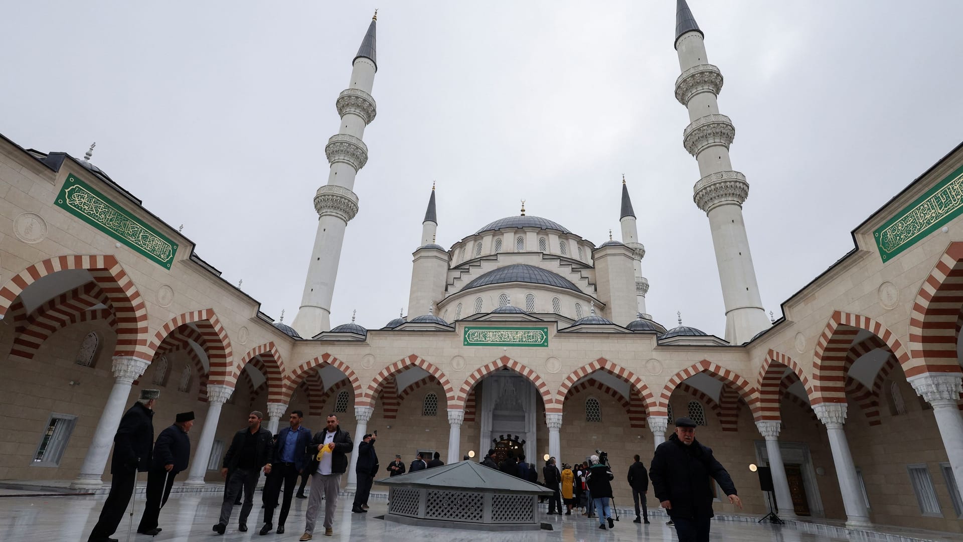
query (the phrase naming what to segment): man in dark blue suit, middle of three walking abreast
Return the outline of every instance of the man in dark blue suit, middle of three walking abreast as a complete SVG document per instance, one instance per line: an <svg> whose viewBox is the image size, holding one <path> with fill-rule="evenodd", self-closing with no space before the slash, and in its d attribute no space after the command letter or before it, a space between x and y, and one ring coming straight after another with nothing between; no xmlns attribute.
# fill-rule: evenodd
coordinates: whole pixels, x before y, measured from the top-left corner
<svg viewBox="0 0 963 542"><path fill-rule="evenodd" d="M274 508L277 507L282 483L284 500L281 501L281 511L277 515L277 533L284 533L284 521L288 519L288 511L291 510L298 474L304 472L304 467L307 466L304 449L311 442L311 431L301 426L303 419L303 412L291 411L289 426L277 433L277 445L273 447L271 460L271 475L264 487L264 527L261 528L261 534L267 534L273 528Z"/></svg>

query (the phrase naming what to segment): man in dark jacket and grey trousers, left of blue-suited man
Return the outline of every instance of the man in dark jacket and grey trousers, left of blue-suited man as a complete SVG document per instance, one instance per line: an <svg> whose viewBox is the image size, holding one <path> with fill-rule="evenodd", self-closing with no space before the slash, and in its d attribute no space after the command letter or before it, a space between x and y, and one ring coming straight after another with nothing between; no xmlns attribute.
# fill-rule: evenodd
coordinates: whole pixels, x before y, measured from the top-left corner
<svg viewBox="0 0 963 542"><path fill-rule="evenodd" d="M271 431L261 427L263 419L264 415L256 410L247 415L247 428L234 434L231 446L224 454L221 476L227 477L228 471L231 475L227 477L227 489L221 503L221 518L214 524L214 531L218 534L223 534L227 528L231 511L234 509L234 498L242 490L244 504L241 505L241 515L238 517L238 530L247 531L247 516L254 507L254 488L261 477L261 468L264 468L264 474L271 474L273 435Z"/></svg>

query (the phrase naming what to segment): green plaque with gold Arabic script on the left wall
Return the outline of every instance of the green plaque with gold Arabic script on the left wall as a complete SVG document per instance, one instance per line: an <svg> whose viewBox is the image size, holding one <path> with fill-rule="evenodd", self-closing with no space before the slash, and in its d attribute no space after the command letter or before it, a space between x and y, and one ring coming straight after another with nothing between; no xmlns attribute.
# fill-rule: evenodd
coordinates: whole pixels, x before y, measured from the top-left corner
<svg viewBox="0 0 963 542"><path fill-rule="evenodd" d="M177 243L141 222L83 180L68 175L64 188L57 195L57 206L170 269L177 254Z"/></svg>

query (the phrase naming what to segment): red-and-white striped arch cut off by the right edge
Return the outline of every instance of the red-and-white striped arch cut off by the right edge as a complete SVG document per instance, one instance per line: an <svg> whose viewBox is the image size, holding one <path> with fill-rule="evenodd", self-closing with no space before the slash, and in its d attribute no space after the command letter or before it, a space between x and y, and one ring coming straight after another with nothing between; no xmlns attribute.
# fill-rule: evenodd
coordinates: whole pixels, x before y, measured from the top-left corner
<svg viewBox="0 0 963 542"><path fill-rule="evenodd" d="M907 377L924 372L960 372L956 321L963 306L963 241L953 241L920 286L909 319Z"/></svg>

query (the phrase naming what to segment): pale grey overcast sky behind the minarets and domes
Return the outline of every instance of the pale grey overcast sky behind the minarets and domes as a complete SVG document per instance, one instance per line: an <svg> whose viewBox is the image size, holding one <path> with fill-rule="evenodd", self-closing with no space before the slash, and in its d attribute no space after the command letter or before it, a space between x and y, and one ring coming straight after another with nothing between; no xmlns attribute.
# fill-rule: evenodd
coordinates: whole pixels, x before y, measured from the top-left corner
<svg viewBox="0 0 963 542"><path fill-rule="evenodd" d="M407 304L432 180L446 247L521 199L598 245L610 229L618 238L624 173L648 311L724 334L673 95L672 0L16 2L0 20L0 131L78 158L95 141L94 164L290 323L334 101L375 8L377 119L332 325L357 309L379 328ZM725 77L719 109L736 125L746 228L778 317L852 247L850 230L963 139L963 2L690 8Z"/></svg>

